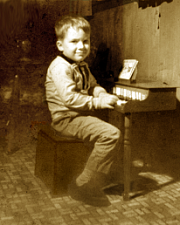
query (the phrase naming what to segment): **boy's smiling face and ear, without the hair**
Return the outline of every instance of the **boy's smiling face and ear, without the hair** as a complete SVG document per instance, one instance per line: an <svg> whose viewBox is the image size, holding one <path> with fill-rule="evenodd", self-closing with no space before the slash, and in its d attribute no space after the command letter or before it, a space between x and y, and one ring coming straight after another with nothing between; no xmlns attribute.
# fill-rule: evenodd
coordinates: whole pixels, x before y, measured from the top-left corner
<svg viewBox="0 0 180 225"><path fill-rule="evenodd" d="M57 47L69 59L75 62L83 61L90 53L90 34L81 28L70 27L64 39L57 41Z"/></svg>

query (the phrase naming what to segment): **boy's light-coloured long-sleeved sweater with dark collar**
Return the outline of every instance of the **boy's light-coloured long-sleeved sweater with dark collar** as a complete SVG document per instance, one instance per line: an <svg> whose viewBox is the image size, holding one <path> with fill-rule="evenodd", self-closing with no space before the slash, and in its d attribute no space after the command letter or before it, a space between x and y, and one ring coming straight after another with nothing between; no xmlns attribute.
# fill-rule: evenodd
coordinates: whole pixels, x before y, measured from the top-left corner
<svg viewBox="0 0 180 225"><path fill-rule="evenodd" d="M84 79L77 63L71 64L61 56L51 62L45 88L52 121L94 110L100 93L107 93L97 84L88 64L81 62L80 66L86 70Z"/></svg>

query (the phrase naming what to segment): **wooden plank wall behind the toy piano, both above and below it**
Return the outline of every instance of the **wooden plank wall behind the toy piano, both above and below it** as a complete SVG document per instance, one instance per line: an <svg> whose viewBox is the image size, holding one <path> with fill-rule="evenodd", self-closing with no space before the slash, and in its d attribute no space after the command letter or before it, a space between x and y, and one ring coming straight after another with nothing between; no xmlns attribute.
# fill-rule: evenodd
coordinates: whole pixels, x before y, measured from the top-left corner
<svg viewBox="0 0 180 225"><path fill-rule="evenodd" d="M110 48L110 67L116 77L123 59L135 58L139 61L138 80L160 80L179 85L179 11L180 1L173 0L146 8L133 2L97 12L91 19L92 45L104 42ZM179 99L178 89L175 111L134 114L134 148L141 152L140 155L147 148L180 155Z"/></svg>

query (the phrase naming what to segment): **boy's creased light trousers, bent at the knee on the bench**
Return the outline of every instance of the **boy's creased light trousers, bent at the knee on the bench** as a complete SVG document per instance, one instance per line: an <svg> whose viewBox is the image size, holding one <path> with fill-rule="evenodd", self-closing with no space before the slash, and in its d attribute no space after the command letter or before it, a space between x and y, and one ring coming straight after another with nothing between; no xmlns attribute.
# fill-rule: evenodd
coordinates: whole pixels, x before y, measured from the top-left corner
<svg viewBox="0 0 180 225"><path fill-rule="evenodd" d="M91 150L85 168L108 175L118 154L121 132L94 116L77 116L53 124L61 135L81 139ZM63 130L62 130L63 127Z"/></svg>

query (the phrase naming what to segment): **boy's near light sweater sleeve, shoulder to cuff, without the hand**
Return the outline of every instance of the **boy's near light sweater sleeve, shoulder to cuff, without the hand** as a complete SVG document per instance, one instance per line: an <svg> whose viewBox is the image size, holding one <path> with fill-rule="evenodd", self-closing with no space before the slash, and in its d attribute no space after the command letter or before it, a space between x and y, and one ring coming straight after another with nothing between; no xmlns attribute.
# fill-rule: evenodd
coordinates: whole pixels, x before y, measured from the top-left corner
<svg viewBox="0 0 180 225"><path fill-rule="evenodd" d="M52 80L63 104L72 110L92 110L93 96L77 90L73 70L67 64L56 65L51 69Z"/></svg>

